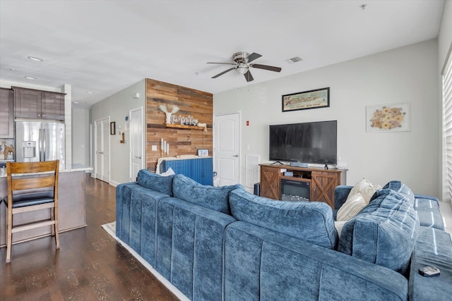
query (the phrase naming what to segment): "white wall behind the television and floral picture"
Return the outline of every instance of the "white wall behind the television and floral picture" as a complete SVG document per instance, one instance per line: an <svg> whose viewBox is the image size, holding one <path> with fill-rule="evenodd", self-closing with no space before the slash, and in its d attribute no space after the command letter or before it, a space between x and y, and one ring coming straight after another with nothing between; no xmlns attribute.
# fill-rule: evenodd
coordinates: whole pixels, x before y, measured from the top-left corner
<svg viewBox="0 0 452 301"><path fill-rule="evenodd" d="M380 185L402 180L417 193L439 197L438 81L438 47L432 39L214 94L213 112L242 111L242 165L246 154L268 161L270 124L337 120L347 184L363 177ZM283 94L323 87L331 88L329 108L281 112ZM366 106L400 102L410 103L410 132L366 133Z"/></svg>

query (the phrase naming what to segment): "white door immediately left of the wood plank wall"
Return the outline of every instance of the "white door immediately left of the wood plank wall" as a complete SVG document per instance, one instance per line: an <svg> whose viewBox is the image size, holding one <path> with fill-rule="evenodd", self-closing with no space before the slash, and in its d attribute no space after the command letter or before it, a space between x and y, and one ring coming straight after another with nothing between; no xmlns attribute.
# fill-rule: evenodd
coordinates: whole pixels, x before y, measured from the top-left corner
<svg viewBox="0 0 452 301"><path fill-rule="evenodd" d="M143 151L143 108L129 111L129 140L130 140L130 181L138 176L138 171L144 168Z"/></svg>

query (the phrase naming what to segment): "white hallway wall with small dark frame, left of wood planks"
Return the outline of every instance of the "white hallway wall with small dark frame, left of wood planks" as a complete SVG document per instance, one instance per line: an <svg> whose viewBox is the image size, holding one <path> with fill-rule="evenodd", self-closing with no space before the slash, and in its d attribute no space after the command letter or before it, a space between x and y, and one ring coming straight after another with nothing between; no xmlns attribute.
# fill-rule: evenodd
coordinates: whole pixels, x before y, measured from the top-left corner
<svg viewBox="0 0 452 301"><path fill-rule="evenodd" d="M140 98L135 99L133 95L140 94ZM110 181L112 185L129 182L129 132L126 132L126 142L119 143L121 135L118 135L119 126L124 131L126 115L129 115L130 109L143 107L143 116L145 116L145 80L141 80L110 97L97 102L91 106L90 124L93 125L92 145L94 147L94 124L101 118L110 117L110 121L116 122L117 135L109 135L110 138ZM143 118L143 129L145 130L145 118ZM94 165L94 152L93 165ZM94 167L94 166L93 166ZM94 172L94 171L93 171Z"/></svg>

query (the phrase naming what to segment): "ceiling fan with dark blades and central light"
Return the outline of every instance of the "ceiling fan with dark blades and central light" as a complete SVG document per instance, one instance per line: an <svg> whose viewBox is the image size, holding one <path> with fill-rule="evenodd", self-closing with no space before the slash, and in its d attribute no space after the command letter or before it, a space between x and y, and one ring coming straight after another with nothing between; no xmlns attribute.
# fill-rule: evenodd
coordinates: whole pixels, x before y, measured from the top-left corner
<svg viewBox="0 0 452 301"><path fill-rule="evenodd" d="M220 75L223 75L230 70L236 70L238 73L243 74L245 76L245 79L247 82L251 82L254 80L253 75L251 75L251 72L249 72L249 68L258 68L263 70L270 70L275 72L280 72L280 67L273 67L268 65L261 65L258 63L251 63L255 59L258 59L261 57L261 54L256 54L256 52L253 52L252 54L249 54L248 52L240 51L236 52L232 59L235 63L221 63L224 65L234 65L234 67L229 68L222 73L218 73L217 75L213 76L212 78L218 78ZM208 63L215 63L215 62L208 62Z"/></svg>

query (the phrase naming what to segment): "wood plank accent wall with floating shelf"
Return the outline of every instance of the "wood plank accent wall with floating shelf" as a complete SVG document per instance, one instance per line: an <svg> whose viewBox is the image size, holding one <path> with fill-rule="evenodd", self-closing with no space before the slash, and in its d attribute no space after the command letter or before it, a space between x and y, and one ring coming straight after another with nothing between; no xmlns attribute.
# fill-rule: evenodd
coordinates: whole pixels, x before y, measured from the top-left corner
<svg viewBox="0 0 452 301"><path fill-rule="evenodd" d="M176 116L188 116L207 123L207 131L198 129L167 128L165 113L160 104L176 105ZM162 156L161 139L169 143L169 154L198 154L198 149L208 149L213 154L213 95L208 92L146 79L146 168L155 171L157 159ZM151 150L157 145L157 152Z"/></svg>

